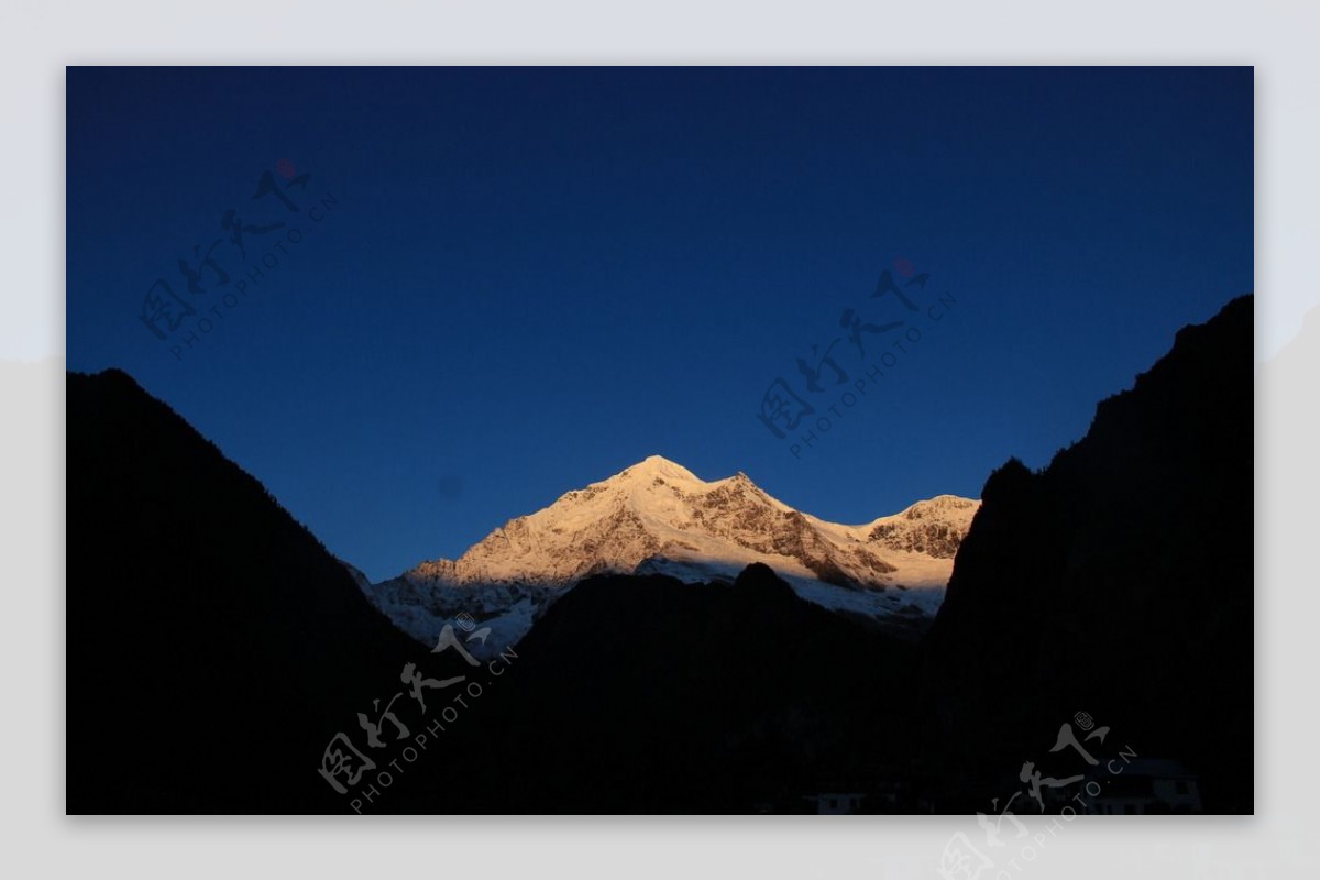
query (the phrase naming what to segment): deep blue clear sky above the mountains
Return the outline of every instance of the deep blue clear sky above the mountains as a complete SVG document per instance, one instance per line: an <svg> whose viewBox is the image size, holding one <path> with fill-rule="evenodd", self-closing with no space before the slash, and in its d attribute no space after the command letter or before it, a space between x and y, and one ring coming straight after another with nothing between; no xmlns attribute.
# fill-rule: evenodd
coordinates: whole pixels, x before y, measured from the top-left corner
<svg viewBox="0 0 1320 881"><path fill-rule="evenodd" d="M653 452L845 522L977 496L1253 288L1245 67L67 74L70 369L132 373L374 579ZM264 171L312 175L298 212ZM227 208L288 226L243 262ZM187 293L216 239L230 285ZM895 260L917 313L869 297ZM198 310L166 342L156 278ZM847 388L795 365L847 307L923 339L795 459L762 396Z"/></svg>

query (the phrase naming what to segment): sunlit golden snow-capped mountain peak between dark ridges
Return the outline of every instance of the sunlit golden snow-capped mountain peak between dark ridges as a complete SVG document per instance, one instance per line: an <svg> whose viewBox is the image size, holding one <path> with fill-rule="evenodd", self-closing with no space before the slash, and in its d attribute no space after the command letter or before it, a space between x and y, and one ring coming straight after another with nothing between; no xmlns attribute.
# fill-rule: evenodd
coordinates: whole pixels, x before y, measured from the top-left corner
<svg viewBox="0 0 1320 881"><path fill-rule="evenodd" d="M598 574L729 580L751 563L807 600L887 625L929 621L979 502L919 501L855 526L799 512L738 472L705 481L653 455L516 517L457 561L418 564L367 590L421 641L467 612L506 645L560 593Z"/></svg>

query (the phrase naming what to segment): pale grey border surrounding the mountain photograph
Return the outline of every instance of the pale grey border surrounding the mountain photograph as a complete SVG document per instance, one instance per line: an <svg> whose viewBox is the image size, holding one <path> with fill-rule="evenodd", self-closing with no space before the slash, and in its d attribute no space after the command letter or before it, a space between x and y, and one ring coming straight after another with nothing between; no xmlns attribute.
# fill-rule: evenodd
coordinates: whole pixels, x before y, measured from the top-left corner
<svg viewBox="0 0 1320 881"><path fill-rule="evenodd" d="M1311 253L1320 7L1287 3L0 5L0 872L107 877L933 877L974 818L67 818L63 66L1233 63L1257 69L1254 818L1085 818L1012 877L1320 873ZM1308 249L1311 253L1308 253ZM1308 313L1309 314L1308 317ZM1253 541L1242 535L1242 541ZM168 695L162 695L162 717ZM1208 717L1205 724L1216 724ZM107 725L117 720L104 720ZM166 727L154 736L170 733ZM236 745L246 748L246 745ZM114 762L114 756L106 756ZM195 768L181 773L199 773ZM125 769L125 773L127 772ZM1028 820L1030 822L1030 820ZM1043 831L1045 823L1032 830ZM1005 869L1005 860L999 860ZM994 877L993 872L987 877Z"/></svg>

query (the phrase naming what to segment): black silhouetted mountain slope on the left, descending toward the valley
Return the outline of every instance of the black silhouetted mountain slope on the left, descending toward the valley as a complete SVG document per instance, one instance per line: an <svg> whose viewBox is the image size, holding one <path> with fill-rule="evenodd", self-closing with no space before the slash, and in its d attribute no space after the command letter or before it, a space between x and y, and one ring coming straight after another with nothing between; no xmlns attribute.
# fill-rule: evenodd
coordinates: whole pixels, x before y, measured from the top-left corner
<svg viewBox="0 0 1320 881"><path fill-rule="evenodd" d="M67 426L69 812L342 810L321 752L417 645L127 373Z"/></svg>

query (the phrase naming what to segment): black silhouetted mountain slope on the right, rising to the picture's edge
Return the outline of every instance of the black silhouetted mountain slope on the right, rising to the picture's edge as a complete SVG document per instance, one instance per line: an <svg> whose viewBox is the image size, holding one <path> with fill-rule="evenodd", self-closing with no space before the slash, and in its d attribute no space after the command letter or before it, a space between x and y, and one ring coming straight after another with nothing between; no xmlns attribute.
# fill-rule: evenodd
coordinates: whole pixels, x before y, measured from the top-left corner
<svg viewBox="0 0 1320 881"><path fill-rule="evenodd" d="M1208 810L1250 811L1251 512L1246 295L1181 330L1049 467L986 481L923 646L929 761L1020 764L1086 711L1192 766Z"/></svg>

